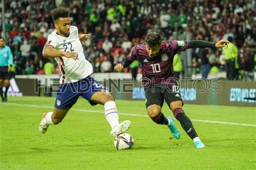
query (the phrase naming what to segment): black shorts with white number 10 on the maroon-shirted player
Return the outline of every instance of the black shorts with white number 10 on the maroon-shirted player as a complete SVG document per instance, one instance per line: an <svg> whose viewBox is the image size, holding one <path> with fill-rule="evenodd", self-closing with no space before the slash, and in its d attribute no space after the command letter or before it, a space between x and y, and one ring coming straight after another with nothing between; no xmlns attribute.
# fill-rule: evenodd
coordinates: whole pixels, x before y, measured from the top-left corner
<svg viewBox="0 0 256 170"><path fill-rule="evenodd" d="M173 101L181 100L181 95L179 92L178 85L164 85L164 86L152 86L147 87L145 90L146 95L146 107L156 104L163 106L164 99L167 105L170 107L170 103ZM182 101L183 105L183 101Z"/></svg>

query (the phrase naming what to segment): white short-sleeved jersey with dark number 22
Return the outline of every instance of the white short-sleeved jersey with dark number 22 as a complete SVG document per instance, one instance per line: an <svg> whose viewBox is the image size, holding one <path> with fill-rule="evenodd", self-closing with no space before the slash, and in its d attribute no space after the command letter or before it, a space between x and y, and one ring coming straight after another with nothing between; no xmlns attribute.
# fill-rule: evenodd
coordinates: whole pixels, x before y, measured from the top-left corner
<svg viewBox="0 0 256 170"><path fill-rule="evenodd" d="M92 74L92 65L85 59L76 26L70 26L69 37L60 36L56 30L53 31L48 36L45 45L51 45L59 51L78 53L79 60L64 56L55 58L59 65L59 70L62 72L62 77L59 80L61 84L76 82Z"/></svg>

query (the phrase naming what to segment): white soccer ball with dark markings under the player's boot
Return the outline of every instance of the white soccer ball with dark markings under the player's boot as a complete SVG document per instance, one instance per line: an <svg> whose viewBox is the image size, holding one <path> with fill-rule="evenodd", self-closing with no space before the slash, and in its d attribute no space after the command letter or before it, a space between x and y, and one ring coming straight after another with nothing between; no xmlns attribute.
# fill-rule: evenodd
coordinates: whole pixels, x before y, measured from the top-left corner
<svg viewBox="0 0 256 170"><path fill-rule="evenodd" d="M131 149L133 144L132 136L129 133L121 133L114 138L114 146L118 150Z"/></svg>

